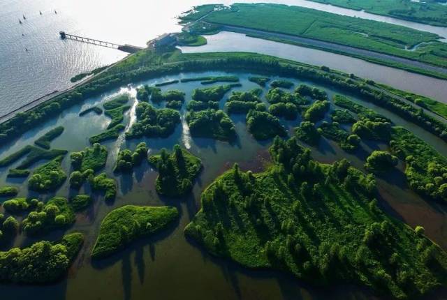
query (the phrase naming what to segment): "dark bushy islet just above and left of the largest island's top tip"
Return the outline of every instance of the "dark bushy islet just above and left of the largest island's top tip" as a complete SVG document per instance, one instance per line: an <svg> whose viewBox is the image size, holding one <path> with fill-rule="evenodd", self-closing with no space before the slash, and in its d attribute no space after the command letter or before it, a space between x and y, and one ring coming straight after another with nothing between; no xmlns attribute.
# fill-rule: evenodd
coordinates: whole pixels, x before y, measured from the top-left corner
<svg viewBox="0 0 447 300"><path fill-rule="evenodd" d="M250 110L247 114L247 129L256 140L268 140L279 135L287 135L286 128L281 125L277 117L268 112Z"/></svg>

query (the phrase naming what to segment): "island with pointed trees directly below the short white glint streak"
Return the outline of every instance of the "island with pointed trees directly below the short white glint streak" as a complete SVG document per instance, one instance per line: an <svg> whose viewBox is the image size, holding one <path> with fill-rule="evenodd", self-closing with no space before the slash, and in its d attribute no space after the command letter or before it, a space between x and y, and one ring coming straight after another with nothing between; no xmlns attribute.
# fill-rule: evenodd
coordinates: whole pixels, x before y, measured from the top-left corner
<svg viewBox="0 0 447 300"><path fill-rule="evenodd" d="M155 188L157 193L170 197L179 197L193 188L193 180L202 169L200 158L174 146L172 154L162 149L159 155L149 156L149 163L159 170Z"/></svg>

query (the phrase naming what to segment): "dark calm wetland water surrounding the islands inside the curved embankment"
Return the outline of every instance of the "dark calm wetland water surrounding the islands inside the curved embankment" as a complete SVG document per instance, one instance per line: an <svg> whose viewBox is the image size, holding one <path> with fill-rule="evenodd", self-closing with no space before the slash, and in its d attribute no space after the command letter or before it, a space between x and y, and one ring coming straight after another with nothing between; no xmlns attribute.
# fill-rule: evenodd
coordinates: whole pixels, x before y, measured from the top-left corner
<svg viewBox="0 0 447 300"><path fill-rule="evenodd" d="M157 80L135 82L130 89L122 88L110 91L101 96L91 98L82 105L71 107L57 119L48 120L34 130L24 135L13 145L0 149L0 157L13 153L26 144L32 144L37 136L47 132L54 126L65 126L63 135L52 142L55 149L80 151L87 147L88 137L100 133L108 125L110 119L104 115L88 114L78 117L78 113L92 105L101 105L105 100L118 93L130 93L133 108L126 113L125 123L135 121L135 87L140 84L154 84L179 77L191 76L181 74L163 77ZM257 87L247 80L249 74L228 73L198 73L202 75L237 75L241 78L242 87L233 90L249 90ZM296 84L302 82L293 80ZM312 84L312 82L305 82ZM312 84L314 85L314 84ZM181 89L186 92L186 100L191 98L191 92L200 87L198 82L173 84L163 87ZM321 87L316 85L316 87ZM339 91L328 87L321 87L329 96ZM264 94L266 89L264 90ZM228 96L228 94L227 94ZM332 98L332 97L331 97ZM395 120L397 125L413 130L438 151L447 154L447 144L424 130L407 123L400 117L374 107L371 103L363 103L358 98L353 100L376 109L378 112ZM221 103L223 107L224 100ZM184 112L184 110L182 111ZM85 213L79 213L75 225L68 232L80 231L85 234L86 241L78 259L68 272L68 278L60 283L45 286L17 286L0 285L3 299L29 299L33 294L37 299L376 299L369 292L353 286L337 286L320 289L301 283L290 276L270 271L250 271L228 262L216 259L191 241L187 241L183 228L200 208L199 195L217 175L239 162L242 169L261 170L263 161L268 158L266 149L270 142L256 142L247 133L244 117L232 115L237 128L238 139L234 144L218 142L209 139L191 138L187 126L178 126L175 133L167 139L142 139L147 142L150 153L158 152L162 147L171 148L179 143L188 148L203 160L204 170L200 174L193 193L180 200L168 200L159 197L154 191L154 181L157 173L146 163L138 167L133 174L117 176L119 193L112 204L106 204L101 197L95 199L94 204ZM291 128L300 119L288 121L284 124ZM117 151L122 148L133 149L141 140L125 141L123 136L116 142L105 143L109 149L108 165L105 169L112 176ZM373 149L384 149L383 144L362 144L362 150L357 156L341 151L333 142L323 140L318 149L312 149L314 158L323 162L332 162L346 157L356 167L362 167L367 154ZM20 162L18 162L20 163ZM68 156L63 162L64 170L70 170ZM14 167L14 165L12 166ZM402 167L402 166L400 166ZM5 184L20 186L20 196L26 197L29 192L26 182L9 181L6 179L6 169L0 169L0 186ZM389 178L379 179L381 190L381 205L398 218L402 218L410 226L423 225L427 235L447 248L447 218L444 210L429 204L406 188L402 173L399 171L389 174ZM73 195L65 184L54 195ZM50 197L52 195L47 195ZM100 262L91 262L89 253L98 234L101 219L106 213L124 204L141 205L173 205L180 211L179 221L162 234L151 239L143 239L133 243L126 250ZM64 232L52 232L43 239L57 239ZM32 239L22 235L17 237L10 246L26 246ZM445 295L444 295L445 296ZM431 295L428 299L443 299L443 295Z"/></svg>

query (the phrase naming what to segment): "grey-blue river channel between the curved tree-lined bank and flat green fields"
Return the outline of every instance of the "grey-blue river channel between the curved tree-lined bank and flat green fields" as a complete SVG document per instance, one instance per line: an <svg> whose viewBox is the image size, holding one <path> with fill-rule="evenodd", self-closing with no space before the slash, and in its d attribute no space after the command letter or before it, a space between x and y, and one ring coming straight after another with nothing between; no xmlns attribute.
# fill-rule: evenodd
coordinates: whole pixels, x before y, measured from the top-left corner
<svg viewBox="0 0 447 300"><path fill-rule="evenodd" d="M277 43L261 38L251 38L242 33L221 31L207 36L207 45L201 47L180 47L182 52L257 52L274 57L292 59L314 66L328 66L345 73L388 84L397 89L411 91L447 103L446 80L439 80L416 73L369 63L362 59L315 50L307 47Z"/></svg>

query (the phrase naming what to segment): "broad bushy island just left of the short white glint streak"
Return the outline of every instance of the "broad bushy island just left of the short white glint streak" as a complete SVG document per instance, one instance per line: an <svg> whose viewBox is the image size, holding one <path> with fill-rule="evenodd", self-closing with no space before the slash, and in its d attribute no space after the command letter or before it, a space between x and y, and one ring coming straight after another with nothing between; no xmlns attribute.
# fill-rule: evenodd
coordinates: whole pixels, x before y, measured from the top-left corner
<svg viewBox="0 0 447 300"><path fill-rule="evenodd" d="M126 132L126 139L137 137L168 137L173 134L180 123L180 114L171 108L157 110L152 105L142 102L136 108L137 121Z"/></svg>

